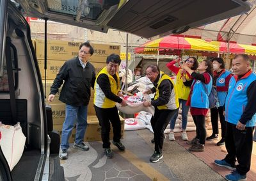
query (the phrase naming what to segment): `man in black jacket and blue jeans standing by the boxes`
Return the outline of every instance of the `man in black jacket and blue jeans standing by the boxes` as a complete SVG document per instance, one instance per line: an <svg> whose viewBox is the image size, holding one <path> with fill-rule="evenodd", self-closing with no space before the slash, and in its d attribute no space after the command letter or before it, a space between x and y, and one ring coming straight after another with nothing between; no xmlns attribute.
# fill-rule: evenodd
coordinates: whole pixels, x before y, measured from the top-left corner
<svg viewBox="0 0 256 181"><path fill-rule="evenodd" d="M76 119L76 139L73 148L83 151L89 150L88 145L83 143L83 138L87 127L87 106L91 96L90 88L95 83L95 68L88 61L92 55L93 47L90 43L82 43L79 46L78 57L64 63L51 86L49 102L52 102L64 81L60 100L66 104L66 116L61 135L60 159L68 158L68 138Z"/></svg>

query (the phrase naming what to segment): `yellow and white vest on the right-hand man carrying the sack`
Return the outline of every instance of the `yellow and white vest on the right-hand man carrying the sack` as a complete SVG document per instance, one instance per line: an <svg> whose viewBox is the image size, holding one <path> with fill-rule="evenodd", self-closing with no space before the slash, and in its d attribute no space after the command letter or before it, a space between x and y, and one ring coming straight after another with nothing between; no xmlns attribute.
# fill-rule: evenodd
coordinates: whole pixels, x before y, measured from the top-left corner
<svg viewBox="0 0 256 181"><path fill-rule="evenodd" d="M163 105L163 106L157 106L157 109L162 110L162 109L177 109L179 107L179 97L177 95L177 87L175 86L173 80L166 74L164 74L164 72L160 72L160 77L159 77L159 81L157 83L157 87L156 87L156 95L154 97L154 100L157 100L157 98L159 98L159 86L162 83L163 80L168 79L169 81L171 81L171 83L173 84L173 89L172 89L172 93L171 93L171 97L170 100L168 101L167 104ZM161 90L163 91L163 90Z"/></svg>

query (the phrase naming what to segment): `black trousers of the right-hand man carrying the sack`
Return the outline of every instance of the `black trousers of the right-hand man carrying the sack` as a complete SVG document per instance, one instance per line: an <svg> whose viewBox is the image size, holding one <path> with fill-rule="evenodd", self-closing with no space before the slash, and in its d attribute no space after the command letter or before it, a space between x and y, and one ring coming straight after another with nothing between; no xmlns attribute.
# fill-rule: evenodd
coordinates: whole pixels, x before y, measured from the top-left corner
<svg viewBox="0 0 256 181"><path fill-rule="evenodd" d="M155 151L157 153L162 153L164 144L164 130L166 129L168 123L170 122L172 116L176 113L176 111L177 109L159 110L156 108L155 114L150 120L152 129L154 130Z"/></svg>

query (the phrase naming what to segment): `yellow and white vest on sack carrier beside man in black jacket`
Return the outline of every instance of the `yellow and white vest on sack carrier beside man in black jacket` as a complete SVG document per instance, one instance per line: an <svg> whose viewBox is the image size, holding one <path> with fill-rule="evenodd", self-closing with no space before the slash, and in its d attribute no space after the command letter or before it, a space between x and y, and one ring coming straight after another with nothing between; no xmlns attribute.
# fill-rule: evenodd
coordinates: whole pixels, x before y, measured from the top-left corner
<svg viewBox="0 0 256 181"><path fill-rule="evenodd" d="M98 79L100 74L108 75L111 91L115 95L117 95L118 91L120 91L120 79L119 79L118 74L116 73L116 77L117 77L117 83L116 83L114 77L112 75L108 74L107 68L104 67L104 68L102 68L102 70L100 70L100 72L97 75L96 80L95 80L93 104L95 106L97 106L97 107L100 107L100 108L115 107L116 106L116 102L114 102L113 100L110 100L109 98L107 98L105 96L104 92L101 90L99 84L97 83L97 79Z"/></svg>

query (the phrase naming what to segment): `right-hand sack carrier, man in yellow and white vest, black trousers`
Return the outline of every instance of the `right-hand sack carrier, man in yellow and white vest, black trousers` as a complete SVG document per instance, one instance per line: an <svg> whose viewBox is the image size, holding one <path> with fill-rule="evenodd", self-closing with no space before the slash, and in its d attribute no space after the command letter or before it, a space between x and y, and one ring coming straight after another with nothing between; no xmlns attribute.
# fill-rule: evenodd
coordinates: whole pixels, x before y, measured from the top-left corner
<svg viewBox="0 0 256 181"><path fill-rule="evenodd" d="M154 106L155 114L150 122L154 130L155 152L150 157L150 162L158 162L163 158L162 149L164 143L164 130L170 119L179 109L179 98L173 80L156 65L150 65L146 69L148 79L154 84L154 88L145 93L156 93L154 100L143 102L144 106Z"/></svg>

